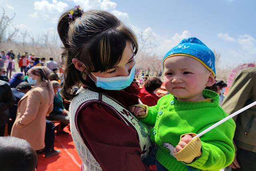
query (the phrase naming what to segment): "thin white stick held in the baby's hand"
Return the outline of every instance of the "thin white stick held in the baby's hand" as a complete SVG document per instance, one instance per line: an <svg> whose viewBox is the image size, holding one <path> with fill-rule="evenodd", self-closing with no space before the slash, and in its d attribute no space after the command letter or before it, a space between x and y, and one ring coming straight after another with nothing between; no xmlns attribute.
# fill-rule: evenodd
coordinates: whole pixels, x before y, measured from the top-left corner
<svg viewBox="0 0 256 171"><path fill-rule="evenodd" d="M225 117L224 119L218 121L217 123L215 123L214 125L208 127L206 130L202 131L201 133L199 133L198 135L196 135L195 137L201 137L202 135L204 135L206 132L214 129L215 127L217 127L218 125L222 124L223 122L227 121L228 119L238 115L239 113L245 111L246 109L249 109L250 107L256 105L256 101L254 101L253 103L247 105L246 107L243 107L242 109L236 111L235 113L232 113L231 115L229 115L228 117ZM193 137L193 138L195 138Z"/></svg>

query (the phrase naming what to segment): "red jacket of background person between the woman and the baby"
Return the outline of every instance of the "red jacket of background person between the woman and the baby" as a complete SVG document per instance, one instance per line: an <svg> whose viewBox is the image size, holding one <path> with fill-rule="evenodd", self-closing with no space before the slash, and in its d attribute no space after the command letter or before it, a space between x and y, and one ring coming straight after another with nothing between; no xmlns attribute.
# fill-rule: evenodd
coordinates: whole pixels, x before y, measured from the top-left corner
<svg viewBox="0 0 256 171"><path fill-rule="evenodd" d="M158 101L158 97L157 95L155 95L154 93L150 93L145 89L145 86L142 87L142 89L140 89L140 100L143 104L148 105L148 106L154 106L156 105L157 101Z"/></svg>

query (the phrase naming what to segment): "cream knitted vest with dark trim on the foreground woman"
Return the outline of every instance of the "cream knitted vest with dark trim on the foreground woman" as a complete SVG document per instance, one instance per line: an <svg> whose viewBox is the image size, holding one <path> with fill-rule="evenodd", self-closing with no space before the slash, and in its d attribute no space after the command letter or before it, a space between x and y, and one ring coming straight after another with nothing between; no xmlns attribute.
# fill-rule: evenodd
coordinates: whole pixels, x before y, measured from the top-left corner
<svg viewBox="0 0 256 171"><path fill-rule="evenodd" d="M97 93L89 89L80 88L78 95L72 100L70 104L70 130L73 141L76 146L76 150L82 159L82 169L84 171L101 171L102 168L100 164L94 159L93 155L90 153L89 149L84 144L84 141L78 131L78 123L76 121L76 116L79 111L91 102L100 101L104 105L110 107L116 115L122 118L122 121L133 127L137 131L137 138L140 142L140 147L142 150L141 159L148 157L149 153L152 151L152 143L150 141L150 129L142 122L125 109L121 104L114 101L112 98L102 94ZM106 156L108 157L108 156Z"/></svg>

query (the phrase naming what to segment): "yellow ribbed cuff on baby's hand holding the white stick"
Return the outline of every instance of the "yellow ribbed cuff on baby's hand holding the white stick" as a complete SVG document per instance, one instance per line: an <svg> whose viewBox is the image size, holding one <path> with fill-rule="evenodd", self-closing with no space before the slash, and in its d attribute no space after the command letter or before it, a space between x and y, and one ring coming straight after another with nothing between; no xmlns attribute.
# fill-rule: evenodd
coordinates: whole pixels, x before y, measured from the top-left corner
<svg viewBox="0 0 256 171"><path fill-rule="evenodd" d="M184 137L184 134L181 135L180 139ZM195 133L190 133L192 137L196 136ZM178 153L175 153L175 157L178 161L183 161L184 163L191 163L196 157L200 157L202 155L201 152L202 143L199 137L192 139L182 150Z"/></svg>

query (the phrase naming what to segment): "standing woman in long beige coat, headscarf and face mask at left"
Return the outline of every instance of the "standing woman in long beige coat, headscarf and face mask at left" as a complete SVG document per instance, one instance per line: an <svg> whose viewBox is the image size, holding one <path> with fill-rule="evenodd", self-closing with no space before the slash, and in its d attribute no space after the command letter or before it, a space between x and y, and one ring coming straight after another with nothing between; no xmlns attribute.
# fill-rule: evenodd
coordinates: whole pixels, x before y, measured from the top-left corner
<svg viewBox="0 0 256 171"><path fill-rule="evenodd" d="M51 71L42 66L28 70L28 83L35 85L19 101L11 136L26 139L34 150L44 148L46 115L53 109Z"/></svg>

